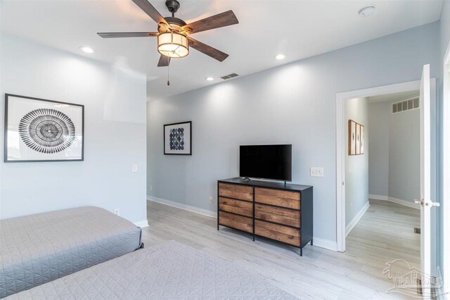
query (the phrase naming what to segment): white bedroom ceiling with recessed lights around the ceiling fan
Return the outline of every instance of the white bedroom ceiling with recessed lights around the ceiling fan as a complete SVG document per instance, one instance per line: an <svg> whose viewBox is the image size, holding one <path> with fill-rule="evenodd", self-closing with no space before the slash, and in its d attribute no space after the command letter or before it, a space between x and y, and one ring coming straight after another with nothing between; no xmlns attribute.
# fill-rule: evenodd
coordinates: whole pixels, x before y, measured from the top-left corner
<svg viewBox="0 0 450 300"><path fill-rule="evenodd" d="M239 24L193 35L229 54L224 62L191 49L158 68L155 38L102 39L96 32L156 31L131 0L0 1L1 31L146 73L149 99L161 99L221 82L229 73L248 75L276 65L340 49L439 20L442 0L179 0L176 16L187 23L232 9ZM163 16L165 0L150 0ZM374 15L360 8L375 4ZM88 45L88 55L79 46ZM285 60L274 56L283 53ZM216 77L208 82L205 77Z"/></svg>

